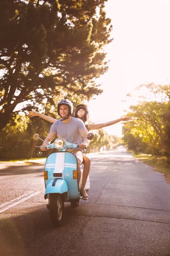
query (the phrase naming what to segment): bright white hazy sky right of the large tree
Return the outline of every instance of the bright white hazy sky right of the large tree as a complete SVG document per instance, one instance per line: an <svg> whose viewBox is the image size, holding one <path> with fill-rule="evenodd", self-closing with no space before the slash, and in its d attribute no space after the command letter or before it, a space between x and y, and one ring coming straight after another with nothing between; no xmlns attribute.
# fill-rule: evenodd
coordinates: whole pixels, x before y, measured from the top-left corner
<svg viewBox="0 0 170 256"><path fill-rule="evenodd" d="M103 93L88 102L90 120L107 122L135 105L126 94L150 82L170 83L170 0L108 0L114 40L107 46L107 73L98 80ZM122 124L104 128L121 136Z"/></svg>

